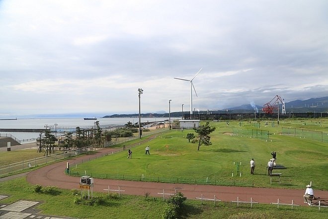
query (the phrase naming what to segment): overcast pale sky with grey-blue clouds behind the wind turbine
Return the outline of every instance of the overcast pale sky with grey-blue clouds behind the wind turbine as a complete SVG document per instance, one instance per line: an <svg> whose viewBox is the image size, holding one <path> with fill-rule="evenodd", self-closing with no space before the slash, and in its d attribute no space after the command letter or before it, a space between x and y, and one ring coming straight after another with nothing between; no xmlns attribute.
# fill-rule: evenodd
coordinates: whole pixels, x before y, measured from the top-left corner
<svg viewBox="0 0 328 219"><path fill-rule="evenodd" d="M0 118L328 96L327 0L0 0ZM170 103L169 103L169 100Z"/></svg>

